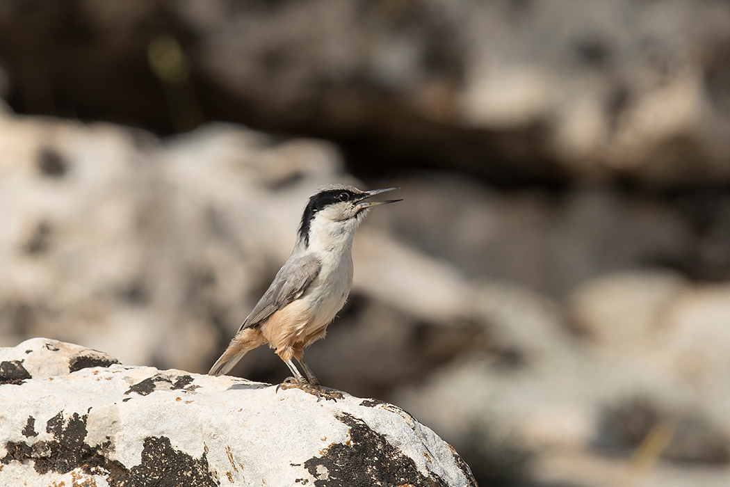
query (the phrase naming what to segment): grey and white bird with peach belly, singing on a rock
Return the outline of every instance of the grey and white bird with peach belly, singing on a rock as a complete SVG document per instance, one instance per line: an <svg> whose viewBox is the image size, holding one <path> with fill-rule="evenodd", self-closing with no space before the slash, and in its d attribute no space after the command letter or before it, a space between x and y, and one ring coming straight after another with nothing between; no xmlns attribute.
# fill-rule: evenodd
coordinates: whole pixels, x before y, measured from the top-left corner
<svg viewBox="0 0 730 487"><path fill-rule="evenodd" d="M340 183L320 186L304 207L291 256L208 374L224 375L249 350L268 344L293 374L277 391L299 388L318 402L342 399L339 391L320 385L304 362L304 348L325 337L327 326L347 301L353 285L353 237L360 223L372 207L403 201L366 200L396 189L361 191Z"/></svg>

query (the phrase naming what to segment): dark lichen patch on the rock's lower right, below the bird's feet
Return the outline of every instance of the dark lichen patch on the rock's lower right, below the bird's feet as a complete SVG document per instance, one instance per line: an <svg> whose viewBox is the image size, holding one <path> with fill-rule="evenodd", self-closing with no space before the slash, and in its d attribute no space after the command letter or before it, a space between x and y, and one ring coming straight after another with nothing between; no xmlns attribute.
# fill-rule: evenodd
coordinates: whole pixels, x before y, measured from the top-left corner
<svg viewBox="0 0 730 487"><path fill-rule="evenodd" d="M323 456L304 462L307 471L317 479L315 486L447 486L442 478L432 472L428 477L424 476L410 457L393 447L383 434L375 432L361 419L348 413L342 413L337 418L350 426L352 441L347 445L335 443L324 450ZM321 475L322 469L326 469L326 476ZM473 478L467 479L469 485L476 487Z"/></svg>

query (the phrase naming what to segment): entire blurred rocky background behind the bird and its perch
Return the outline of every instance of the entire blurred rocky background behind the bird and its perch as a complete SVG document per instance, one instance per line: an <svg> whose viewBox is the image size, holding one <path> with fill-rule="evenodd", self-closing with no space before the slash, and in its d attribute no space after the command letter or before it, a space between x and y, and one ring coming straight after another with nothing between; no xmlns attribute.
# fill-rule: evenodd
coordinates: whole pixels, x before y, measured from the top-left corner
<svg viewBox="0 0 730 487"><path fill-rule="evenodd" d="M324 383L482 486L728 485L728 2L6 1L0 98L0 346L205 372L318 185L399 185Z"/></svg>

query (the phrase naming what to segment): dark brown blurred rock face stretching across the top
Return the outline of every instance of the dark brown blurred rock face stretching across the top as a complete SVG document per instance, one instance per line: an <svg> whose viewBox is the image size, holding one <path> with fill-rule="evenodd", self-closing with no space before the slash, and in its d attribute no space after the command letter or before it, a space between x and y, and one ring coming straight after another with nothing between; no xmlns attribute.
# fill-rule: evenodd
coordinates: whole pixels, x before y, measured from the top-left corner
<svg viewBox="0 0 730 487"><path fill-rule="evenodd" d="M671 186L730 177L728 31L700 0L37 1L0 9L0 60L21 112L317 134L378 153L362 170Z"/></svg>

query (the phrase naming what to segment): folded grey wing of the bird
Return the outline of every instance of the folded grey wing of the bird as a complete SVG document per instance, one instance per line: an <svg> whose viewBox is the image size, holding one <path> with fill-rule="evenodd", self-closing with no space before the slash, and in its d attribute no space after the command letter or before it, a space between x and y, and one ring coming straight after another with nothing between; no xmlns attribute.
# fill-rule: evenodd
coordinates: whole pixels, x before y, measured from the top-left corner
<svg viewBox="0 0 730 487"><path fill-rule="evenodd" d="M317 278L321 268L320 260L312 255L286 261L238 331L261 323L274 311L301 298Z"/></svg>

